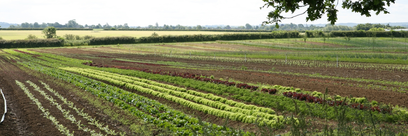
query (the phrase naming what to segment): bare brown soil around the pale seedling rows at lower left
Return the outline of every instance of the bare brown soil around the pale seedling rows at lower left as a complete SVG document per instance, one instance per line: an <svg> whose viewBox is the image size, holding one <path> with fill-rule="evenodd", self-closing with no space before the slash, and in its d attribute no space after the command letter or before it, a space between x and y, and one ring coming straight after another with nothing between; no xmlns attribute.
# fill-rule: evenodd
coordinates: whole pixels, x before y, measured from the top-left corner
<svg viewBox="0 0 408 136"><path fill-rule="evenodd" d="M1 136L64 136L61 132L55 128L55 125L52 125L51 120L42 117L43 115L40 110L36 106L34 106L32 100L30 100L26 94L18 87L15 83L15 80L23 82L26 87L28 87L29 91L37 98L40 103L44 106L45 109L54 116L59 124L67 127L69 131L75 131L73 134L79 136L90 135L89 132L84 132L78 129L78 126L71 123L71 121L67 120L61 111L55 106L51 105L48 100L44 98L38 91L35 91L33 87L31 87L28 83L24 81L30 80L38 85L43 91L46 91L48 95L52 96L56 102L62 105L62 101L51 92L48 92L44 86L38 82L39 78L35 76L31 76L20 68L16 67L1 59L3 65L9 69L8 71L2 71L0 74L1 84L4 85L2 87L3 93L5 94L7 100L7 108L8 113L6 114L6 118L4 122L0 125L0 135ZM4 67L2 67L4 70ZM4 73L4 74L3 74ZM45 76L45 75L43 75ZM43 77L44 78L44 77ZM99 123L104 123L105 125L109 125L110 129L115 130L116 132L120 132L118 127L123 128L117 121L110 120L109 116L101 114L101 109L95 108L89 103L83 103L86 100L82 100L80 96L76 96L75 94L71 94L66 89L62 89L61 87L56 86L53 83L49 83L50 87L53 88L55 91L59 92L64 98L67 98L68 101L74 103L76 107L79 109L84 109L85 113L88 113L89 116L99 120ZM63 109L70 110L70 114L72 114L76 120L81 120L81 123L86 125L91 130L95 130L95 132L99 133L100 130L98 127L94 125L87 124L88 121L84 120L82 116L79 116L73 109L69 108L67 105L62 105ZM99 114L97 114L99 113ZM104 132L102 132L104 134ZM106 133L105 133L106 134Z"/></svg>

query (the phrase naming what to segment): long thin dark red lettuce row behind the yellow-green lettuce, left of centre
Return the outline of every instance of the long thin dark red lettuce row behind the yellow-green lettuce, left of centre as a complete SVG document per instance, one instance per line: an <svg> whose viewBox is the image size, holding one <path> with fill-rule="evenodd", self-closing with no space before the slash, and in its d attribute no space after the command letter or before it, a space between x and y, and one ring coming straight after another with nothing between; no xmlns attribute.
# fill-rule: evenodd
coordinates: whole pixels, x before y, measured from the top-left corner
<svg viewBox="0 0 408 136"><path fill-rule="evenodd" d="M116 60L113 60L113 61L116 61ZM136 62L132 62L132 63L136 63ZM242 89L251 89L251 90L257 90L258 89L258 86L248 85L248 84L245 84L245 83L229 82L229 81L220 80L220 79L207 78L208 77L207 75L191 74L191 73L188 73L188 72L181 73L181 72L172 72L172 71L166 71L166 70L141 69L141 68L135 68L135 67L108 66L108 65L102 65L102 64L95 65L95 63L88 63L88 62L85 62L83 64L84 65L89 65L89 66L94 66L94 67L113 67L113 68L118 68L118 69L130 69L130 70L143 71L143 72L151 73L151 74L177 76L177 77L182 77L182 78L200 80L200 81L204 81L204 82L212 82L212 83L215 83L215 84L222 84L222 85L226 85L226 86L235 86L237 88L242 88ZM146 64L149 64L149 63L146 63ZM276 91L275 91L275 93L276 93Z"/></svg>

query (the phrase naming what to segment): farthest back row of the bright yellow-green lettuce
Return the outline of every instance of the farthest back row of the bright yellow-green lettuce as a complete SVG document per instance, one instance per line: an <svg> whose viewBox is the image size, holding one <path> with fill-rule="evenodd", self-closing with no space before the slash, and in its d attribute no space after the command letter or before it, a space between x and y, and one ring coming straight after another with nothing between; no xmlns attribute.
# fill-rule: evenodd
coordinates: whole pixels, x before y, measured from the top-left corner
<svg viewBox="0 0 408 136"><path fill-rule="evenodd" d="M219 107L219 109L231 109L231 111L246 109L246 110L255 110L255 112L264 112L264 113L268 113L268 114L274 114L275 113L275 111L273 111L272 109L269 109L269 108L257 107L255 105L246 105L244 103L238 103L238 102L235 102L233 100L228 100L226 98L222 98L220 96L214 96L213 94L205 94L205 93L200 93L200 92L193 91L193 90L186 90L184 88L175 87L175 86L172 86L172 85L166 85L166 84L162 84L162 83L159 83L159 82L154 82L154 81L151 81L151 80L140 79L140 78L135 78L135 77L131 77L131 76L124 76L124 75L119 75L119 74L113 74L113 73L98 71L98 70L93 70L93 69L82 69L82 68L76 68L76 67L73 67L73 68L66 67L65 69L71 69L71 70L73 70L73 71L75 71L77 73L81 73L81 74L83 72L85 72L84 74L95 74L95 75L98 75L98 76L104 76L104 77L107 77L107 78L120 80L122 82L133 83L135 85L150 88L150 89L153 89L155 91L162 91L162 92L166 92L166 93L169 93L169 94L175 94L175 95L183 97L183 98L189 98L189 99L194 100L196 102L201 101L201 100L205 100L206 101L205 103L207 103L208 105L217 105L215 107ZM149 83L151 85L149 85L147 83ZM175 91L177 91L177 92L175 92ZM193 95L195 95L195 96L193 96ZM199 96L199 97L196 97L196 96ZM204 98L215 100L215 101L221 102L221 103L226 103L227 105L222 105L221 103L213 102L211 100L207 100L207 99L204 99ZM213 104L209 104L209 103L213 103ZM235 106L235 108L230 107L228 105ZM239 109L237 109L237 108L239 108ZM243 112L243 113L246 113L246 112Z"/></svg>

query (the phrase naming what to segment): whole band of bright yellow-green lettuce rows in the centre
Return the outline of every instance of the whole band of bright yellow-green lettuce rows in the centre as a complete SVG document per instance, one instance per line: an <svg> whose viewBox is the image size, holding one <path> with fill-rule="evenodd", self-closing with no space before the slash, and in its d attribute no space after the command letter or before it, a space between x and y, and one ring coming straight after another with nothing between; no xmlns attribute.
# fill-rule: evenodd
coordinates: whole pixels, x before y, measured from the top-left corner
<svg viewBox="0 0 408 136"><path fill-rule="evenodd" d="M78 68L60 67L58 69L82 74L84 76L96 78L98 80L108 81L115 85L125 86L128 89L134 89L142 93L151 94L153 96L164 98L166 100L171 100L180 105L190 107L197 111L202 111L205 114L211 114L211 115L218 116L221 118L229 118L231 120L241 121L243 123L259 123L259 125L261 126L268 125L273 128L283 127L282 122L286 122L284 119L284 116L274 115L275 111L273 111L272 109L268 110L268 109L261 108L261 107L257 109L243 109L239 107L231 107L227 104L221 103L220 101L208 100L208 99L205 99L199 96L193 96L193 95L190 95L184 92L174 91L171 89L165 89L165 88L157 87L154 85L148 85L146 83L141 83L141 82L126 79L126 78L120 78L117 76L100 74L97 72L91 72L85 69L78 69ZM88 72L91 72L92 74ZM146 88L143 88L143 87L146 87ZM196 103L186 100L185 98L193 100ZM197 104L197 103L201 103L201 104ZM262 109L264 109L264 111L262 111Z"/></svg>

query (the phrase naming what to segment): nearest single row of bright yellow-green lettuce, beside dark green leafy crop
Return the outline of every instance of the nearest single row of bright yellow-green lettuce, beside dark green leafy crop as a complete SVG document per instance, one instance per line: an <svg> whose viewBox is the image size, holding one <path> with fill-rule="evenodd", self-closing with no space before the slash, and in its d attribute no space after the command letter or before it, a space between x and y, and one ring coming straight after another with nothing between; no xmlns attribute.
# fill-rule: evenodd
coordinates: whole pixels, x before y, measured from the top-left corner
<svg viewBox="0 0 408 136"><path fill-rule="evenodd" d="M146 94L151 94L153 96L158 96L158 97L161 97L161 98L165 98L167 100L171 100L171 101L173 101L175 103L179 103L179 104L184 105L186 107L190 107L192 109L202 111L202 112L204 112L206 114L211 114L211 115L222 117L222 118L229 118L231 120L237 120L237 121L241 121L243 123L259 123L259 125L268 125L268 126L271 126L271 127L281 127L283 122L284 122L284 117L283 116L271 115L271 116L274 116L274 117L271 120L269 120L267 118L257 117L257 116L262 116L262 114L265 114L265 113L261 113L261 112L253 113L254 116L246 115L246 114L241 113L241 112L233 113L233 112L230 112L230 111L224 111L224 110L208 107L208 106L205 106L205 105L200 105L200 104L197 104L197 103L193 103L193 102L185 100L183 98L172 96L172 95L170 95L168 93L161 93L159 91L154 91L152 89L144 88L144 87L141 87L141 86L138 86L138 85L133 85L131 83L122 82L122 81L115 80L115 79L112 79L112 78L107 78L107 77L104 77L104 76L98 76L98 75L95 75L95 74L89 74L89 73L86 73L86 72L83 72L83 71L78 71L76 69L62 68L62 67L60 67L58 69L79 73L79 74L82 74L84 76L89 76L89 77L92 77L92 78L96 78L98 80L105 80L105 81L111 82L111 83L113 83L115 85L126 86L126 88L134 89L136 91L140 91L140 92L143 92L143 93L146 93ZM271 116L268 116L268 118L271 118Z"/></svg>

